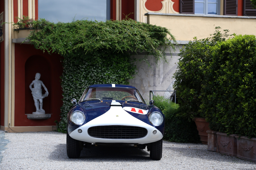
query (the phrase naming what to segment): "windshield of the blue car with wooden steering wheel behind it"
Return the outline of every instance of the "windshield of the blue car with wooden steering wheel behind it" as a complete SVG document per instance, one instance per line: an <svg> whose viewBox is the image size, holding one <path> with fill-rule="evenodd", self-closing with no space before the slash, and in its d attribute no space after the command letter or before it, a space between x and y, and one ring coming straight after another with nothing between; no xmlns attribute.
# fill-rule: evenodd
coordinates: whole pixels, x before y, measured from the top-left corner
<svg viewBox="0 0 256 170"><path fill-rule="evenodd" d="M137 100L146 104L140 92L132 88L88 88L80 99L86 100Z"/></svg>

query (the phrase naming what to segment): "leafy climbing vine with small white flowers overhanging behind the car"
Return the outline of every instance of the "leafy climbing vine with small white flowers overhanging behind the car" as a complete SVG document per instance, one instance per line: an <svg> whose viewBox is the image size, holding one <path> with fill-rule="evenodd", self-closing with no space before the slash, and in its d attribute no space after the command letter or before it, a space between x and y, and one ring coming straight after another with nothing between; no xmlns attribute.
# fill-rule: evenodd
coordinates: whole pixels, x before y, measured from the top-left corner
<svg viewBox="0 0 256 170"><path fill-rule="evenodd" d="M146 52L155 61L166 62L166 48L174 48L175 39L163 27L136 22L77 20L71 23L51 23L44 19L33 21L27 37L35 48L63 57L63 106L59 132L66 132L67 113L72 106L70 99L79 99L84 89L92 84L128 84L136 74L135 60L131 55ZM167 38L167 36L169 38Z"/></svg>

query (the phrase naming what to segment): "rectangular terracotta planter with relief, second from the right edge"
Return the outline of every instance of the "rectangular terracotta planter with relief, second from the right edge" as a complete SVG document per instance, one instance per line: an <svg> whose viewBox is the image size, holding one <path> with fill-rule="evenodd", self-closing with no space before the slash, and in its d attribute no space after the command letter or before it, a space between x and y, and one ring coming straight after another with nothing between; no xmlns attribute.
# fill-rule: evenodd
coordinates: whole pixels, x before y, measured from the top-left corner
<svg viewBox="0 0 256 170"><path fill-rule="evenodd" d="M226 133L217 132L217 148L216 152L228 155L237 155L237 139L235 134L227 136Z"/></svg>

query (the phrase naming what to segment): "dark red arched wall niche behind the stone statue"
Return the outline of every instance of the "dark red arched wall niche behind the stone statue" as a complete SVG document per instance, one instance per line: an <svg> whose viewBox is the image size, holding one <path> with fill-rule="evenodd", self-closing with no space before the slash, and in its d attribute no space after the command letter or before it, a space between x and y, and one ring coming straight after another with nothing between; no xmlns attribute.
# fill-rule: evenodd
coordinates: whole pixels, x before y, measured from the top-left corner
<svg viewBox="0 0 256 170"><path fill-rule="evenodd" d="M40 55L30 56L25 63L25 113L32 114L36 111L34 99L29 89L30 83L35 80L36 73L40 73L40 80L48 89L49 95L43 99L43 109L46 114L50 113L50 99L51 99L51 67L49 61ZM42 93L45 93L42 87Z"/></svg>

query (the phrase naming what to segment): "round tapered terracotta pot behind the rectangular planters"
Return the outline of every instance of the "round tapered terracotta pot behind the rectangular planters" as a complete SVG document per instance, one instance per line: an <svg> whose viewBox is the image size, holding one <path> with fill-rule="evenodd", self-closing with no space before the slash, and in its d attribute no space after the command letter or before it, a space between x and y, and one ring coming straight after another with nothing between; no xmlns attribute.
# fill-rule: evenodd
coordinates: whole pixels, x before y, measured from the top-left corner
<svg viewBox="0 0 256 170"><path fill-rule="evenodd" d="M196 128L198 130L202 144L207 145L208 134L206 131L210 130L209 123L206 122L205 118L194 117L193 120L196 122Z"/></svg>

